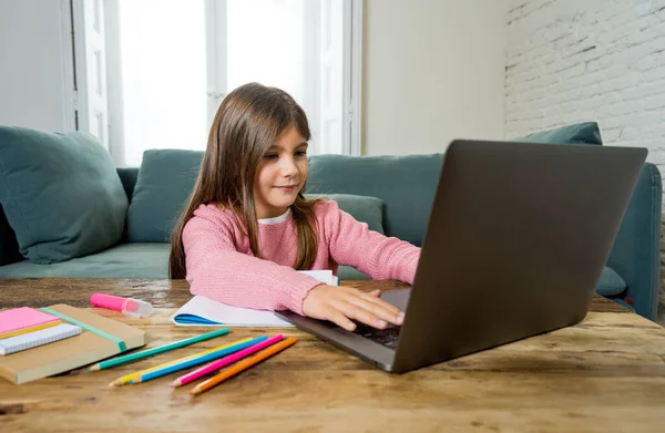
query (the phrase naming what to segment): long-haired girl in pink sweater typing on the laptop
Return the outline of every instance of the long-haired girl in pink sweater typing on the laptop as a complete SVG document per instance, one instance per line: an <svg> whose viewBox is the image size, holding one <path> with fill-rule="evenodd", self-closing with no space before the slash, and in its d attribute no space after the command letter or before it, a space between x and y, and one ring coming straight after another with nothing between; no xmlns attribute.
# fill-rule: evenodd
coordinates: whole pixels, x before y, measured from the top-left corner
<svg viewBox="0 0 665 433"><path fill-rule="evenodd" d="M352 331L383 329L403 312L349 287L296 270L352 266L372 279L413 282L420 248L370 231L336 202L308 200L303 109L257 83L229 93L215 115L201 172L172 238L171 278L194 295L237 307L327 319Z"/></svg>

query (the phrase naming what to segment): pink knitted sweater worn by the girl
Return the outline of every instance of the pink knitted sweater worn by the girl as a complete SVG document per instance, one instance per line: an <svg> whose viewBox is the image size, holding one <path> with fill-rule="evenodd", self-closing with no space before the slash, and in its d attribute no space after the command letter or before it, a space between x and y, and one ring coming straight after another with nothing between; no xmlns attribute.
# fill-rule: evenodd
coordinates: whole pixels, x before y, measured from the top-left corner
<svg viewBox="0 0 665 433"><path fill-rule="evenodd" d="M413 282L420 248L369 230L336 202L317 205L315 214L318 250L313 270L336 275L338 265L348 265L372 279ZM191 291L232 306L303 315L303 300L321 282L291 268L297 252L293 216L287 210L258 223L263 258L254 257L232 210L208 204L194 212L183 230Z"/></svg>

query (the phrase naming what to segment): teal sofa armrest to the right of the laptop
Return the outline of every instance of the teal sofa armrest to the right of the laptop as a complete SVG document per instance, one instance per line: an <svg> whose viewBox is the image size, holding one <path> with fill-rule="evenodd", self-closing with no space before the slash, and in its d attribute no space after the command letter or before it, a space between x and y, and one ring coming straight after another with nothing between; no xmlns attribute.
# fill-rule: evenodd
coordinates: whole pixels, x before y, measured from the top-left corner
<svg viewBox="0 0 665 433"><path fill-rule="evenodd" d="M658 308L661 264L661 172L644 164L633 196L612 247L607 266L625 281L621 296L647 319L655 320Z"/></svg>

